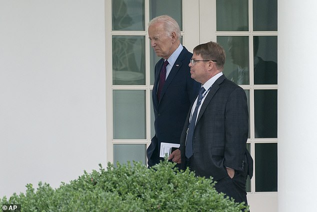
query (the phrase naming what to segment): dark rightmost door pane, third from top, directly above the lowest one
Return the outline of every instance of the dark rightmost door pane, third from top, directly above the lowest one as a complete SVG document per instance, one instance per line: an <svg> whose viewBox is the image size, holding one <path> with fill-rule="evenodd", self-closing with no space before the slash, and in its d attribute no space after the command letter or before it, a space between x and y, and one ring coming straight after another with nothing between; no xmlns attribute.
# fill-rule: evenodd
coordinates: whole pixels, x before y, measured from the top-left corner
<svg viewBox="0 0 317 212"><path fill-rule="evenodd" d="M255 138L277 138L277 90L254 90Z"/></svg>

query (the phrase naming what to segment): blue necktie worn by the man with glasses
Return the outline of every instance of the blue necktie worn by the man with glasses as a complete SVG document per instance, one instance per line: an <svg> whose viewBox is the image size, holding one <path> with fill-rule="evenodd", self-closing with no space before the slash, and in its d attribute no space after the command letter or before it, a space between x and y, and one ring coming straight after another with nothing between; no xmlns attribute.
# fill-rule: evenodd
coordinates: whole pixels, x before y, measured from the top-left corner
<svg viewBox="0 0 317 212"><path fill-rule="evenodd" d="M191 116L191 120L188 125L187 129L187 136L186 136L186 146L185 146L185 156L186 158L190 158L192 156L192 138L193 138L193 130L195 129L195 122L197 118L198 108L202 100L202 94L205 91L203 87L200 88L198 93L198 99L196 103L195 110L193 111L193 114Z"/></svg>

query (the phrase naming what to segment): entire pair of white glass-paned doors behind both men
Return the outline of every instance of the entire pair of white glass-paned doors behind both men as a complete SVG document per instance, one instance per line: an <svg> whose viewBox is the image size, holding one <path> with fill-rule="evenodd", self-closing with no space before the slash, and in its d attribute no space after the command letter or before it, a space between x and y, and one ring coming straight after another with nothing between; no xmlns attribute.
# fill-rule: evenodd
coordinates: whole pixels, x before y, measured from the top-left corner
<svg viewBox="0 0 317 212"><path fill-rule="evenodd" d="M277 0L105 0L107 161L146 164L159 59L147 23L161 14L177 20L189 51L210 40L225 49L223 73L244 89L249 107L248 204L277 212Z"/></svg>

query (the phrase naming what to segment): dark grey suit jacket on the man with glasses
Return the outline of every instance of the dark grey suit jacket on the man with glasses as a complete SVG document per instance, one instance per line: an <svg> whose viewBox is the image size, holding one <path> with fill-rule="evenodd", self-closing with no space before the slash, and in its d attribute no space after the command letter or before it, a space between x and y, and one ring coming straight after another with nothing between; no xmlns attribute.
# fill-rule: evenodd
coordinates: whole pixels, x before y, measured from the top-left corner
<svg viewBox="0 0 317 212"><path fill-rule="evenodd" d="M206 95L193 136L193 156L185 158L190 110L180 137L181 168L217 181L227 175L225 167L252 176L253 161L246 150L248 108L244 90L220 76Z"/></svg>

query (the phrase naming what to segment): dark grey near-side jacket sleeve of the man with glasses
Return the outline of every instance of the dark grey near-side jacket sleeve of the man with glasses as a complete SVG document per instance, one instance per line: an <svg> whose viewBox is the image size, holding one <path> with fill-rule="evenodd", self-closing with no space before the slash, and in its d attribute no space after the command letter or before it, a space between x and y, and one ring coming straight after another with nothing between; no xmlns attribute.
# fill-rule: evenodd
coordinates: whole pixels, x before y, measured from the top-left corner
<svg viewBox="0 0 317 212"><path fill-rule="evenodd" d="M229 95L225 109L225 167L243 171L247 136L247 100L244 90L238 87Z"/></svg>

